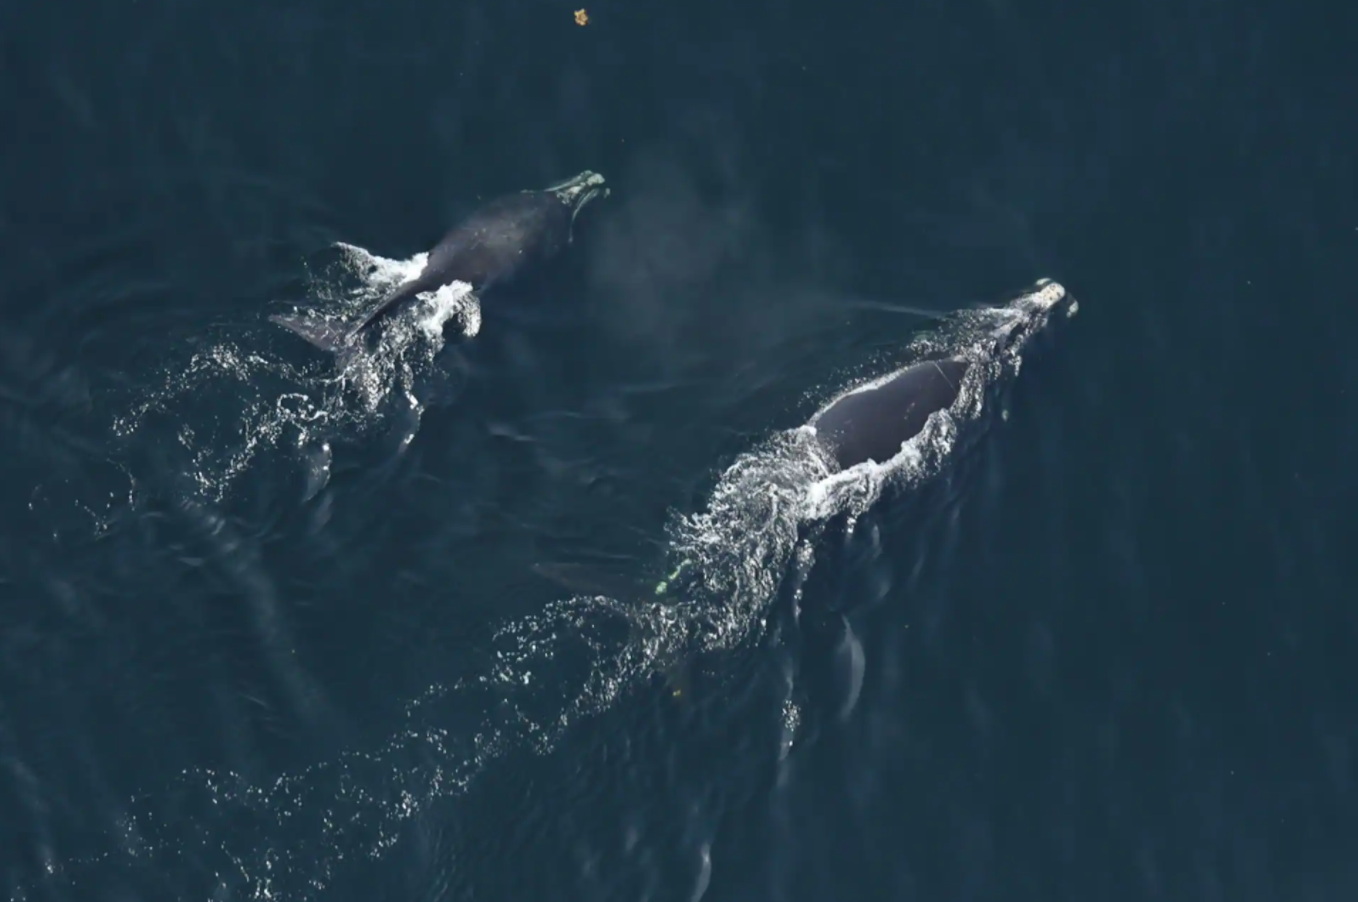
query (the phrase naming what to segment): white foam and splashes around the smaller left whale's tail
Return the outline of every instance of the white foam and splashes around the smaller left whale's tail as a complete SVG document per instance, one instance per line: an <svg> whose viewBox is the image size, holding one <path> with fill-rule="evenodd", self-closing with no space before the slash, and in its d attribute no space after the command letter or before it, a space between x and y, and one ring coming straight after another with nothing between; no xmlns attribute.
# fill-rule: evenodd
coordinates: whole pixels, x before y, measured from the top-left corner
<svg viewBox="0 0 1358 902"><path fill-rule="evenodd" d="M387 259L353 245L337 245L340 261L312 277L318 302L307 312L352 321L394 287L424 269L428 254ZM175 439L190 458L196 494L220 501L235 481L268 451L285 450L308 470L308 494L329 478L330 444L354 437L403 412L409 443L424 399L417 383L429 375L444 345L444 326L473 337L481 329L481 304L466 283L420 295L378 330L375 346L342 360L301 346L296 359L265 349L262 340L242 346L224 341L193 355L187 365L163 375L163 383L114 421L114 435L129 439L152 416L177 424ZM280 341L287 333L277 326ZM258 338L258 333L251 336Z"/></svg>

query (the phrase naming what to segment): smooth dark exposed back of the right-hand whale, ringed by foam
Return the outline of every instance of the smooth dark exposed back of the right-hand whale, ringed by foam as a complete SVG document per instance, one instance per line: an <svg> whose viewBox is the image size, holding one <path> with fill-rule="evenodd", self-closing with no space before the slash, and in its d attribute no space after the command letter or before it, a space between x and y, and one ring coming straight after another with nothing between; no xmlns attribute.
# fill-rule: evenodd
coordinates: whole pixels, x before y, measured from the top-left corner
<svg viewBox="0 0 1358 902"><path fill-rule="evenodd" d="M926 360L880 386L850 391L811 420L816 440L843 470L885 463L919 435L929 414L953 405L968 365L960 359Z"/></svg>

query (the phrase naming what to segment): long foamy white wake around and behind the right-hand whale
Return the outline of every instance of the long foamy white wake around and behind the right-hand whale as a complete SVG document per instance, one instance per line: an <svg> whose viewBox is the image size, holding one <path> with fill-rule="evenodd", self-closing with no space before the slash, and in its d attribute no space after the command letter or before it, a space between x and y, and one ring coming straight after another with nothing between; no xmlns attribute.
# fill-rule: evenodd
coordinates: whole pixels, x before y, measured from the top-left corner
<svg viewBox="0 0 1358 902"><path fill-rule="evenodd" d="M314 898L331 884L346 856L383 856L402 825L435 801L463 793L505 753L547 753L580 717L608 709L676 659L758 638L789 573L800 596L822 524L846 516L853 528L884 489L918 484L948 459L959 427L980 416L987 387L1021 361L1021 348L987 356L994 329L1014 315L1008 308L970 311L910 345L898 365L940 350L967 355L979 365L968 368L953 408L933 414L891 461L835 471L805 427L775 433L737 458L702 511L676 515L668 526L671 562L691 575L678 598L581 595L507 622L494 637L494 666L429 687L407 705L403 728L380 748L349 753L268 785L235 774L185 773L181 788L202 793L204 810L230 819L230 837L213 834L210 823L162 831L149 814L133 814L124 825L122 854L215 867L219 886L212 891L223 898ZM581 659L589 662L588 672L572 676L569 662ZM801 720L790 689L771 712L785 725L781 746L770 750L778 758ZM473 712L481 712L475 728L449 728L467 723ZM251 840L239 838L243 820L255 826Z"/></svg>

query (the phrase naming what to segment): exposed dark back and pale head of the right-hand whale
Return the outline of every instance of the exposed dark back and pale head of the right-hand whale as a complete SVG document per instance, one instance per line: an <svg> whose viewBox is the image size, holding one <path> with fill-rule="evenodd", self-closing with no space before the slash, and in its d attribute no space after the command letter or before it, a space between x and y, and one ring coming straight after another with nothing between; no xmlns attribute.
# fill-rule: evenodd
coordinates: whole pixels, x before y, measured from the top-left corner
<svg viewBox="0 0 1358 902"><path fill-rule="evenodd" d="M1032 293L1009 304L1017 315L994 331L991 352L1001 353L1027 341L1065 299L1066 289L1058 283L1038 283ZM970 367L971 361L963 356L911 364L839 395L808 425L842 470L869 461L885 463L923 431L932 414L952 408Z"/></svg>

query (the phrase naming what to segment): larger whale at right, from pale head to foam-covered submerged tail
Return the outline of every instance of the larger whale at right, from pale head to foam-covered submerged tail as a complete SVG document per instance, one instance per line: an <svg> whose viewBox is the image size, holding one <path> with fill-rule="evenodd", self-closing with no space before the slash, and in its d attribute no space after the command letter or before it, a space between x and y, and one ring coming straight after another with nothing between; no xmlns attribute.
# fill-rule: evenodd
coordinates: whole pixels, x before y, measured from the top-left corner
<svg viewBox="0 0 1358 902"><path fill-rule="evenodd" d="M788 568L796 561L799 579L807 575L801 568L812 557L803 557L803 539L816 541L828 518L875 500L876 490L860 492L877 480L873 463L883 470L913 469L911 444L923 443L930 418L938 414L952 417L955 429L976 422L986 406L982 398L1009 384L1033 340L1050 331L1048 322L1076 311L1076 300L1062 285L1040 280L1008 304L957 317L951 336L919 342L936 349L930 359L915 357L895 372L838 393L801 425L781 431L778 440L740 455L718 478L706 509L683 515L667 528L669 542L660 565L619 573L611 562L539 561L532 569L577 596L592 598L610 615L622 613L629 655L663 674L682 697L694 662L690 652L727 648L748 630L767 626L769 606L782 591ZM952 452L959 432L948 435L940 433L944 440L937 444L925 443L929 448L915 448L923 465L915 474L926 475ZM926 462L930 450L944 456ZM835 490L845 485L846 494ZM577 615L574 609L570 615ZM839 648L850 659L861 656L858 640L843 624ZM861 689L861 660L850 664L858 670L851 676L858 682L847 706Z"/></svg>

